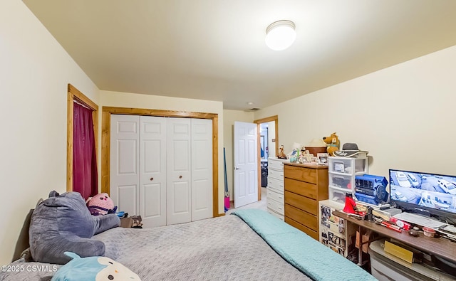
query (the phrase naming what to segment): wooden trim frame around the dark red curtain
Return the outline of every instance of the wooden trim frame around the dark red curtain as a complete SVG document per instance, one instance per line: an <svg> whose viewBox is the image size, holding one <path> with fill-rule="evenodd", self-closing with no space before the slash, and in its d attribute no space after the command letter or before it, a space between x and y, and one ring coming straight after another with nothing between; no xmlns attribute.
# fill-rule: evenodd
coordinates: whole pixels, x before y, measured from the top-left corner
<svg viewBox="0 0 456 281"><path fill-rule="evenodd" d="M79 102L92 110L93 136L95 137L95 155L98 152L98 105L90 100L73 85L67 88L66 111L66 191L73 191L73 103Z"/></svg>

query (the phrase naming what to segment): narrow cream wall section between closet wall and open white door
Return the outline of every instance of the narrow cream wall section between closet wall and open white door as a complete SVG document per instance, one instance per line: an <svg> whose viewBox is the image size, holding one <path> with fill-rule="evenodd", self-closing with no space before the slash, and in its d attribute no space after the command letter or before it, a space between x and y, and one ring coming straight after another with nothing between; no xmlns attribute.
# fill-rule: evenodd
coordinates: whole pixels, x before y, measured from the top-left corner
<svg viewBox="0 0 456 281"><path fill-rule="evenodd" d="M234 122L254 122L254 113L240 110L223 110L223 131L224 131L224 147L227 157L227 181L229 198L233 200L233 181L234 181L234 164L233 164L233 128ZM223 166L222 166L223 167ZM222 186L224 190L224 185Z"/></svg>

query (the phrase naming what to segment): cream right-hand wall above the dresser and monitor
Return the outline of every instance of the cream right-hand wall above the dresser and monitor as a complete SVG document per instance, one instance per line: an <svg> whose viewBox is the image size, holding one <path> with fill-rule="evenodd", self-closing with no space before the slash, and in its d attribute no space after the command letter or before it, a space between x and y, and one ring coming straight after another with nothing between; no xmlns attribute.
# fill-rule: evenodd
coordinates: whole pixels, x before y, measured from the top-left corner
<svg viewBox="0 0 456 281"><path fill-rule="evenodd" d="M279 115L285 151L337 132L388 169L456 174L456 46L255 112Z"/></svg>

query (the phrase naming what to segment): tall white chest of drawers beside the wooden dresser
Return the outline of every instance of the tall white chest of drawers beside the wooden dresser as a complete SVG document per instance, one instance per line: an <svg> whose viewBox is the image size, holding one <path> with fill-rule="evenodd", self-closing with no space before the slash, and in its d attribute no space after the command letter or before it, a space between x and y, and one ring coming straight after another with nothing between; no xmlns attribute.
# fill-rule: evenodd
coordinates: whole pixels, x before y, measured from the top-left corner
<svg viewBox="0 0 456 281"><path fill-rule="evenodd" d="M268 159L268 186L266 189L268 212L284 221L284 161Z"/></svg>

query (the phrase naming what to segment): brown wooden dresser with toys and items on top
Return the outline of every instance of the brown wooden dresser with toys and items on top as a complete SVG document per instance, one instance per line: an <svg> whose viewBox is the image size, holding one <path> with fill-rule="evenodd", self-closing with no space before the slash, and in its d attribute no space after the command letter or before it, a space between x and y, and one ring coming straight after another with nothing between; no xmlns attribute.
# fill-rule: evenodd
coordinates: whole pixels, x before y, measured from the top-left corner
<svg viewBox="0 0 456 281"><path fill-rule="evenodd" d="M318 201L328 199L328 166L284 163L285 222L318 240Z"/></svg>

